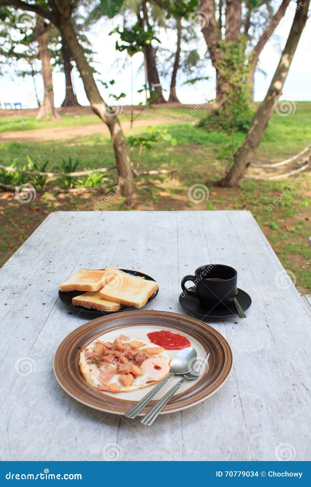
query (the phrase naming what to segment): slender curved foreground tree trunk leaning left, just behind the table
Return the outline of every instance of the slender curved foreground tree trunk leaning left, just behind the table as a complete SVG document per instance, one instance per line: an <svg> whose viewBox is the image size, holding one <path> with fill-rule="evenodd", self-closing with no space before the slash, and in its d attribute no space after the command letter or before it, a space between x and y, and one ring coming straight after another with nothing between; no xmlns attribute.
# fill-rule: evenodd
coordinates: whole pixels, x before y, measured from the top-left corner
<svg viewBox="0 0 311 487"><path fill-rule="evenodd" d="M106 105L98 91L93 71L86 59L83 48L78 42L70 17L60 19L59 24L61 25L61 34L67 43L71 57L77 64L91 108L107 124L111 133L121 194L131 199L134 194L133 173L130 167L126 141L118 117L113 109Z"/></svg>

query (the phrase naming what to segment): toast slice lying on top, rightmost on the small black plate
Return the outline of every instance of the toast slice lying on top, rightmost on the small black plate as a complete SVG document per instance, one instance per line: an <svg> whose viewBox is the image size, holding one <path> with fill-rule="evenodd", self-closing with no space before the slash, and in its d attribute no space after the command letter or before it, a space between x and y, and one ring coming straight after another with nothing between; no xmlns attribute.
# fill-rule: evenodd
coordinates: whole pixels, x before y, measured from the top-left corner
<svg viewBox="0 0 311 487"><path fill-rule="evenodd" d="M116 267L107 267L102 277L103 287L100 298L126 306L141 308L157 290L155 281L141 279Z"/></svg>

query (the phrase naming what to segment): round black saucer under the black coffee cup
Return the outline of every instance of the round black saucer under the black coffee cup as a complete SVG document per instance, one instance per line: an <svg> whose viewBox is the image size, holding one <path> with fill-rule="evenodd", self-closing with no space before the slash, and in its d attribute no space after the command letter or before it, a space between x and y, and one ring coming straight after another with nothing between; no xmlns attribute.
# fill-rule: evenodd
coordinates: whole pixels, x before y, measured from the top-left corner
<svg viewBox="0 0 311 487"><path fill-rule="evenodd" d="M194 289L194 287L190 287L189 289ZM245 291L239 288L237 288L236 299L240 303L240 306L243 309L243 311L249 309L249 307L252 304L251 297ZM188 296L185 293L180 294L179 302L183 308L189 311L189 313L192 313L193 315L202 316L202 317L227 318L238 314L234 306L234 303L231 303L229 306L217 306L213 309L208 309L205 306L202 306L202 304L197 298Z"/></svg>

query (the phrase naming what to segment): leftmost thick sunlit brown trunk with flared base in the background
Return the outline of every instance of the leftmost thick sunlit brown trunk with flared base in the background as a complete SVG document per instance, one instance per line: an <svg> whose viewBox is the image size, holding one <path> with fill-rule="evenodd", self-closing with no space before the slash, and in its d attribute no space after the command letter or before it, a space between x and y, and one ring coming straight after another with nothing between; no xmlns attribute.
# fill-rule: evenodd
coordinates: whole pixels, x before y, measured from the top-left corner
<svg viewBox="0 0 311 487"><path fill-rule="evenodd" d="M44 85L44 97L43 102L39 107L38 115L36 119L43 117L56 118L54 108L54 91L52 81L52 66L51 57L49 53L49 32L51 30L51 24L45 22L45 20L37 20L36 33L39 43L39 59L41 61L41 75Z"/></svg>

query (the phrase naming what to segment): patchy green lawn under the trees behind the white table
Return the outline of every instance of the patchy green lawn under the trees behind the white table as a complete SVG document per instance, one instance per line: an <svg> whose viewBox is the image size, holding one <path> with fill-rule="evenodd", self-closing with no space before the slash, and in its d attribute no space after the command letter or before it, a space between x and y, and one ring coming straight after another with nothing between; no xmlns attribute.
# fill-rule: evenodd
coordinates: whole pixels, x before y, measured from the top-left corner
<svg viewBox="0 0 311 487"><path fill-rule="evenodd" d="M310 254L311 247L308 245L308 237L311 235L310 228L310 174L302 173L302 178L294 185L293 189L286 191L289 187L289 178L277 181L254 181L244 179L238 188L220 188L216 185L222 177L228 161L217 159L215 150L231 142L231 138L222 131L206 132L193 125L195 119L189 122L180 123L181 117L185 117L190 109L178 108L157 108L146 111L140 115L149 118L152 122L161 123L169 133L176 139L176 145L172 146L167 142L156 143L151 151L142 152L141 165L139 170L150 169L178 169L175 178L171 175L139 177L136 179L136 201L135 209L138 210L179 210L179 209L248 209L252 212L264 234L268 238L272 248L285 269L294 273L296 286L302 293L310 292ZM195 113L200 116L203 111ZM68 124L69 126L83 125L84 123L98 123L94 115L81 115L74 118L68 115L63 116L61 121L48 122L48 124ZM125 120L125 115L121 119ZM26 119L27 117L25 117ZM42 128L39 121L29 117L29 125L23 124L23 129ZM173 123L166 123L168 119L175 119ZM87 120L87 121L86 121ZM170 121L171 121L170 120ZM0 123L5 124L4 119ZM37 124L39 124L37 126ZM11 124L12 126L14 124ZM281 161L296 154L310 144L311 126L311 104L297 103L296 111L289 116L272 115L259 150L256 161L263 163ZM6 129L3 129L6 130ZM12 128L10 129L12 130ZM14 129L14 130L21 130ZM139 127L139 119L136 123L135 132L146 131L146 126ZM128 132L128 129L126 129ZM241 143L244 136L236 133L236 143ZM7 142L1 145L1 164L8 165L13 159L18 165L26 163L26 154L34 162L45 163L48 161L49 169L55 170L60 167L61 159L78 159L78 167L102 168L114 165L114 156L111 150L111 143L106 135L92 135L71 139L67 141L50 142ZM134 150L134 161L137 150ZM291 176L294 181L297 175ZM103 183L109 183L113 187L116 175L110 173L108 178L103 178ZM208 187L210 196L207 201L199 204L192 203L188 198L188 189L196 183ZM271 207L274 200L283 192L286 195L281 201ZM107 190L107 193L109 190ZM21 205L17 202L14 194L2 193L0 207L0 259L3 264L36 228L42 219L51 211L55 210L94 210L98 200L103 200L105 194L52 194L38 193L34 202ZM0 196L1 197L1 196ZM115 196L103 209L105 210L126 210L127 205L124 199Z"/></svg>

